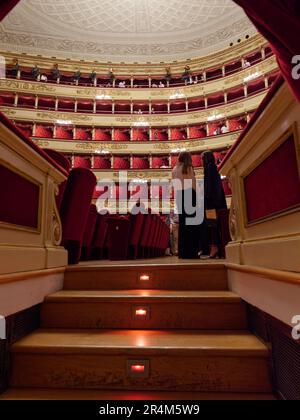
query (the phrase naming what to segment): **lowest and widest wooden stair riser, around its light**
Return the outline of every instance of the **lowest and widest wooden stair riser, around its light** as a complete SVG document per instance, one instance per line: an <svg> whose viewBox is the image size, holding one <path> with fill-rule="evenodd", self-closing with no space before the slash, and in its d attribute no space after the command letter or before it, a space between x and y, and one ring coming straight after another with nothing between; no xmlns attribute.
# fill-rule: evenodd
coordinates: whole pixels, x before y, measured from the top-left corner
<svg viewBox="0 0 300 420"><path fill-rule="evenodd" d="M264 357L160 356L148 358L149 377L129 378L127 362L140 356L13 354L11 386L57 389L271 392Z"/></svg>

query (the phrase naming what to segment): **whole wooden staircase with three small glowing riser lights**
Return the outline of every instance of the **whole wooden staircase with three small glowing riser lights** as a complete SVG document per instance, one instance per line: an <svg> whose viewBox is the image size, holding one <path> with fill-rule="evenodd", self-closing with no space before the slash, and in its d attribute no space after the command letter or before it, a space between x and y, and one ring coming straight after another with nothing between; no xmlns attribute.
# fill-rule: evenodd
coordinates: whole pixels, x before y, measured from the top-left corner
<svg viewBox="0 0 300 420"><path fill-rule="evenodd" d="M11 351L8 399L272 398L222 264L70 267Z"/></svg>

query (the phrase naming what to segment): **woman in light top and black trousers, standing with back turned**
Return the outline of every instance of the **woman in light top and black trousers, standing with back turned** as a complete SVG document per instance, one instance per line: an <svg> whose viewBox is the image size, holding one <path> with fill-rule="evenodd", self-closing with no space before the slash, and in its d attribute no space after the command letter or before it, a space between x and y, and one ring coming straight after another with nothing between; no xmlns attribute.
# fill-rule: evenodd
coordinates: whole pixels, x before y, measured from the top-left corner
<svg viewBox="0 0 300 420"><path fill-rule="evenodd" d="M179 213L178 257L197 259L200 228L200 223L196 224L197 182L189 152L180 153L172 178L175 181L175 197ZM191 224L191 220L194 224Z"/></svg>

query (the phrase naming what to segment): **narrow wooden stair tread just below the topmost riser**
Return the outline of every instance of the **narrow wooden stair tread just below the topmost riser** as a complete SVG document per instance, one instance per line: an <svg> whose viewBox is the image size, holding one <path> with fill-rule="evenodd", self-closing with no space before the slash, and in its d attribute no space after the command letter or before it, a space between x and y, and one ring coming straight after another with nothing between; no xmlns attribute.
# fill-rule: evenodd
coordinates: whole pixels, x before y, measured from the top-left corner
<svg viewBox="0 0 300 420"><path fill-rule="evenodd" d="M204 302L204 303L240 303L241 298L227 291L175 291L175 290L64 290L46 297L47 303L71 303L71 302L127 302L127 301L151 301L151 302Z"/></svg>

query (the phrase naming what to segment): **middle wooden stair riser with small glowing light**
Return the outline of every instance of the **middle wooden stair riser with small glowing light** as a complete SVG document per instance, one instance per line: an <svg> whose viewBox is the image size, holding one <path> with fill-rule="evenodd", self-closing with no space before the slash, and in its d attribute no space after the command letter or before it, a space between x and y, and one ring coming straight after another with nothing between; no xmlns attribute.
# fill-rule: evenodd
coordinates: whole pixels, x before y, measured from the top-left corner
<svg viewBox="0 0 300 420"><path fill-rule="evenodd" d="M135 319L147 308L149 319ZM45 303L42 328L244 330L243 303Z"/></svg>

